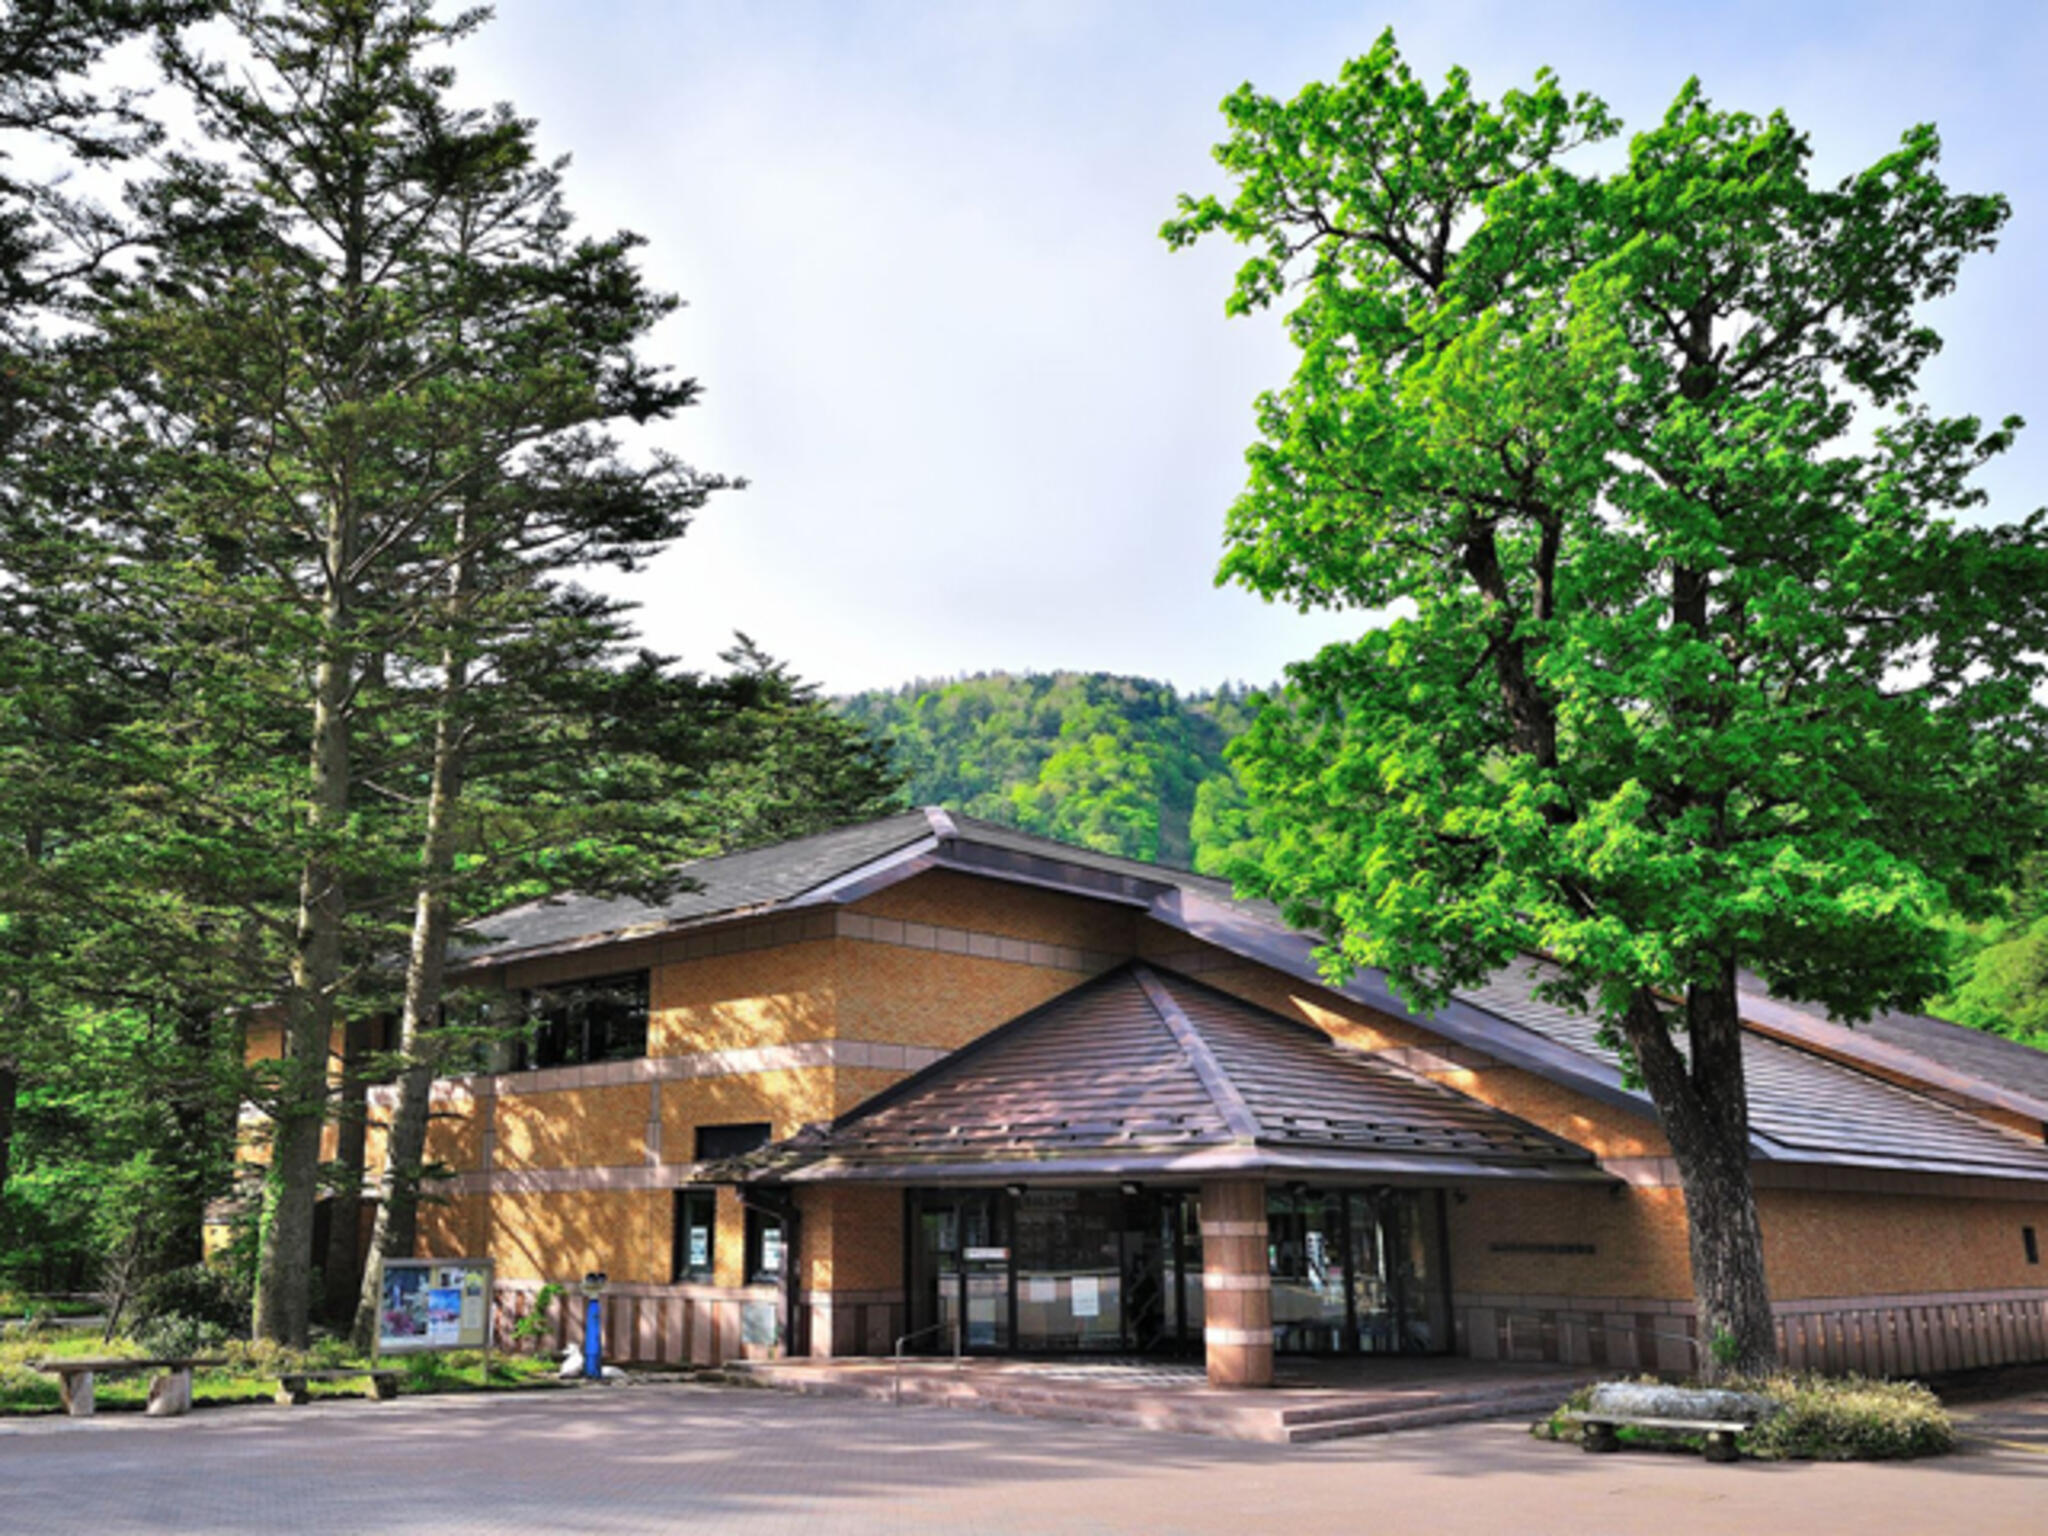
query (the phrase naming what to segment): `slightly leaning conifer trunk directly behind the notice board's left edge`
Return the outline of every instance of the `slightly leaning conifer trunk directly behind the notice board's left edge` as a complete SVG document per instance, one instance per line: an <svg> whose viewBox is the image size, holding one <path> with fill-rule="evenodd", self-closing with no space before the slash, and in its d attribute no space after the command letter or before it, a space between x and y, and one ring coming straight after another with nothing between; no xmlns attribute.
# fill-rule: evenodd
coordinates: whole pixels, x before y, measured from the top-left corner
<svg viewBox="0 0 2048 1536"><path fill-rule="evenodd" d="M451 610L459 616L475 590L471 518L457 520L459 555L453 573ZM451 625L451 631L459 627ZM397 1079L397 1104L385 1135L385 1167L377 1196L377 1225L371 1231L371 1262L362 1270L356 1298L354 1341L371 1348L377 1337L383 1262L408 1257L418 1237L420 1182L426 1165L426 1116L434 1090L434 1061L424 1038L440 1016L442 977L449 954L449 877L455 870L455 811L463 799L465 725L461 709L469 690L469 659L451 641L440 659L440 700L434 721L434 774L426 799L426 836L420 844L420 887L412 911L412 952L406 956L406 1008L399 1016L399 1051L406 1071Z"/></svg>

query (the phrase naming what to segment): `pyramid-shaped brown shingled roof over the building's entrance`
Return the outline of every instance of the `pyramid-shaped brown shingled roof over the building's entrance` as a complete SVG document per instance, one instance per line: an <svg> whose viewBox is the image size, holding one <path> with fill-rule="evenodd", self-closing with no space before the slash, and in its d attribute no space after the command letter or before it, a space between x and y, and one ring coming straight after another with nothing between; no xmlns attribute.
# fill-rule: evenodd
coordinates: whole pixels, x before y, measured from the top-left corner
<svg viewBox="0 0 2048 1536"><path fill-rule="evenodd" d="M1608 1180L1581 1147L1143 963L1055 997L829 1126L702 1171L743 1184Z"/></svg>

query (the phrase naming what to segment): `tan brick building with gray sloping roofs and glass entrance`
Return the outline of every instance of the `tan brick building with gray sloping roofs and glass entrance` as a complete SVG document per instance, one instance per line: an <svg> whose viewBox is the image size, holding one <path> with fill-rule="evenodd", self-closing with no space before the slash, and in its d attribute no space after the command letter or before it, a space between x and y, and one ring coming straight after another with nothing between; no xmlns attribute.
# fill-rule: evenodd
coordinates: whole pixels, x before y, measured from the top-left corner
<svg viewBox="0 0 2048 1536"><path fill-rule="evenodd" d="M537 1024L436 1083L422 1253L492 1255L502 1319L604 1270L643 1362L1692 1364L1657 1116L1534 961L1421 1018L1219 881L944 811L690 874L508 911L461 963ZM1745 1020L1788 1362L2048 1360L2048 1055Z"/></svg>

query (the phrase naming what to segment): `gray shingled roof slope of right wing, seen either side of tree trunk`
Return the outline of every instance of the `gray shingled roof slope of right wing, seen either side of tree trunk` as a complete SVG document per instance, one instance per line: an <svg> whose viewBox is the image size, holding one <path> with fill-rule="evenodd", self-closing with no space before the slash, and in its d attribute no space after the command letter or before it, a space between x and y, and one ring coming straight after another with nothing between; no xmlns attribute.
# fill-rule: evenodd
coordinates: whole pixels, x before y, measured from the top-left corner
<svg viewBox="0 0 2048 1536"><path fill-rule="evenodd" d="M1587 1014L1536 997L1556 967L1520 961L1464 993L1509 1024L1618 1063ZM1683 1040L1681 1040L1683 1044ZM2048 1145L1782 1040L1743 1034L1749 1126L1784 1161L2048 1180Z"/></svg>

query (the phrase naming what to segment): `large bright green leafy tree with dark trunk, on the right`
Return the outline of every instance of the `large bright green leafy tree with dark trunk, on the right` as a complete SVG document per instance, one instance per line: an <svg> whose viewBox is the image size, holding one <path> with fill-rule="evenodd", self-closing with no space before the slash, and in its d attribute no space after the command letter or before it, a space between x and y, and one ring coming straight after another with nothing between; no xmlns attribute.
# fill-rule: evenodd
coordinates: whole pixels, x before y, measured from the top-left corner
<svg viewBox="0 0 2048 1536"><path fill-rule="evenodd" d="M1708 1370L1774 1356L1737 973L1855 1020L1944 981L1948 911L2038 846L2048 530L1958 518L2015 424L1942 418L1921 305L1997 197L1931 127L1817 184L1782 117L1688 84L1614 117L1542 74L1432 92L1386 35L1225 102L1229 201L1286 305L1223 580L1389 610L1235 754L1260 889L1417 1004L1556 961L1661 1114ZM1399 606L1397 606L1399 604Z"/></svg>

